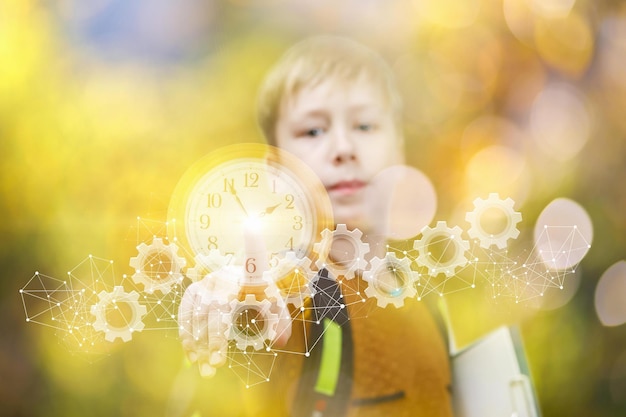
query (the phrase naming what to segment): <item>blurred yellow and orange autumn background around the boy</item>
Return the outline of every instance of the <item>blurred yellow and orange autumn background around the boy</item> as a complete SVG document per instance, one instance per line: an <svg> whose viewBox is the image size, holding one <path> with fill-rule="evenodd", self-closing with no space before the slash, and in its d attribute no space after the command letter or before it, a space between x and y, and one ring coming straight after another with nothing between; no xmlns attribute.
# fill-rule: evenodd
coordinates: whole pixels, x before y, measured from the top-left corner
<svg viewBox="0 0 626 417"><path fill-rule="evenodd" d="M516 201L526 236L556 197L588 211L577 291L522 329L544 416L625 415L626 331L594 305L602 273L626 258L626 5L608 0L3 1L2 415L163 414L182 360L175 331L90 363L25 322L18 289L89 254L128 273L137 216L164 221L202 155L261 141L263 74L319 33L391 63L437 219L461 222L490 191Z"/></svg>

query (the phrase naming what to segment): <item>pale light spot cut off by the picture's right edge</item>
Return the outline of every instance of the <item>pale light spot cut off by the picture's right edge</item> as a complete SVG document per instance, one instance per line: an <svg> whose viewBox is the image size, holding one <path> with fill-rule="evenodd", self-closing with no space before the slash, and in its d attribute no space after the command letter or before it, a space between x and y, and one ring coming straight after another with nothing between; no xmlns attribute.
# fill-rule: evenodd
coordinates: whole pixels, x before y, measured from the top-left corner
<svg viewBox="0 0 626 417"><path fill-rule="evenodd" d="M598 318L605 326L626 323L626 261L609 267L598 281L595 306Z"/></svg>

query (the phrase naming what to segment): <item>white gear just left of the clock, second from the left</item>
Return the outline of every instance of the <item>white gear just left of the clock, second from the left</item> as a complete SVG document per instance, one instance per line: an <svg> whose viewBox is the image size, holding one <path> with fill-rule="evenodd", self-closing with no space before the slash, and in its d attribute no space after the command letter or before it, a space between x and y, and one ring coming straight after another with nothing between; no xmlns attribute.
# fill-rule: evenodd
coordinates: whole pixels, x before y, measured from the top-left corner
<svg viewBox="0 0 626 417"><path fill-rule="evenodd" d="M167 294L174 284L183 280L182 268L187 260L178 256L178 247L174 243L165 244L155 237L150 245L141 243L137 246L137 256L130 258L130 266L135 268L132 278L141 283L148 294L161 291Z"/></svg>

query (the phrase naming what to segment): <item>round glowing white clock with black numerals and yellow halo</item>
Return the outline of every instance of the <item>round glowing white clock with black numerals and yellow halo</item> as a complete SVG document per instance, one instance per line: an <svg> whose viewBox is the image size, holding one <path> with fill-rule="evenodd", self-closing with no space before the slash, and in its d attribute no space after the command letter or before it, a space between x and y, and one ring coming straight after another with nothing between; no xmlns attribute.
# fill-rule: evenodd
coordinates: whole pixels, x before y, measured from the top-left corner
<svg viewBox="0 0 626 417"><path fill-rule="evenodd" d="M257 247L261 241L268 262L288 251L310 256L332 226L330 199L315 173L292 154L259 143L200 159L180 179L168 210L171 242L194 256L217 249L238 264L251 239Z"/></svg>

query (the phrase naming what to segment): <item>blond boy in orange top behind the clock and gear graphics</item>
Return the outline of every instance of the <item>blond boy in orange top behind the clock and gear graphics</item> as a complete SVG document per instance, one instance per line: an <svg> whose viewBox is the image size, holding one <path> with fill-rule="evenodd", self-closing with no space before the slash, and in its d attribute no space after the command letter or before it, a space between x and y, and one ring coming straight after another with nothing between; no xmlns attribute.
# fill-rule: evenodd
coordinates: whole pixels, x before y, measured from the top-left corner
<svg viewBox="0 0 626 417"><path fill-rule="evenodd" d="M259 125L268 143L313 169L328 191L335 223L363 232L370 257L384 256L386 225L371 198L371 183L383 169L404 162L401 114L386 63L338 37L296 44L270 72L259 96ZM322 278L323 285L336 285L333 277ZM365 288L360 276L356 280ZM343 292L348 311L339 321L342 378L334 396L320 406L315 378L307 376L318 373L315 367L324 358L298 357L301 363L295 363L279 357L272 381L246 392L244 415L452 415L446 347L426 306L407 300L400 309L374 308L366 318L350 320L359 300ZM292 332L292 339L299 334ZM194 349L186 345L197 357ZM201 366L221 364L203 360Z"/></svg>

